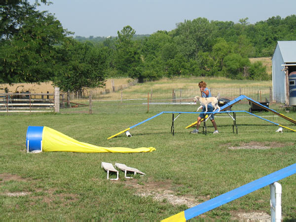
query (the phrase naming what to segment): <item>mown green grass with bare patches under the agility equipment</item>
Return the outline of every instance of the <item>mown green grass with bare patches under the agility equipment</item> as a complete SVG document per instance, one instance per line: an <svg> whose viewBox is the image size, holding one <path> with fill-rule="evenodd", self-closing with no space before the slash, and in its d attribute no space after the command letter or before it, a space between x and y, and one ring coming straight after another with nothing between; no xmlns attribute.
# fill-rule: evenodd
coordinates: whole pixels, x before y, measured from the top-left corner
<svg viewBox="0 0 296 222"><path fill-rule="evenodd" d="M149 84L142 87L149 89ZM216 117L218 135L212 134L209 122L207 135L190 134L192 128L185 126L196 120L196 114L181 114L172 136L172 115L162 114L130 130L130 138L121 134L107 140L161 111L195 111L196 107L151 106L147 112L143 105L93 106L96 112L92 115L67 111L0 115L1 220L159 221L296 162L294 132L276 133L277 126L246 114L237 114L238 134L232 133L233 121L225 114ZM233 110L247 111L249 107L242 103ZM295 112L286 113L278 104L271 104L271 108L296 119ZM296 129L293 123L271 113L256 114ZM47 126L102 147L156 150L28 154L25 141L29 125ZM119 181L107 181L102 161L123 163L146 175L128 180L120 172ZM296 220L296 175L279 183L283 186L283 218ZM266 186L194 220L267 217L269 192Z"/></svg>

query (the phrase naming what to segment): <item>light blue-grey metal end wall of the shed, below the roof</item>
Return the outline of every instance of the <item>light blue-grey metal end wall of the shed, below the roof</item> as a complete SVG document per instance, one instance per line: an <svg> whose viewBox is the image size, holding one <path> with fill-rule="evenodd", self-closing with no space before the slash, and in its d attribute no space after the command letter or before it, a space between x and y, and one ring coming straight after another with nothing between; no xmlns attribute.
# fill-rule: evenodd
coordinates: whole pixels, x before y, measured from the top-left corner
<svg viewBox="0 0 296 222"><path fill-rule="evenodd" d="M286 81L283 56L279 45L276 46L272 57L272 100L277 103L286 102Z"/></svg>

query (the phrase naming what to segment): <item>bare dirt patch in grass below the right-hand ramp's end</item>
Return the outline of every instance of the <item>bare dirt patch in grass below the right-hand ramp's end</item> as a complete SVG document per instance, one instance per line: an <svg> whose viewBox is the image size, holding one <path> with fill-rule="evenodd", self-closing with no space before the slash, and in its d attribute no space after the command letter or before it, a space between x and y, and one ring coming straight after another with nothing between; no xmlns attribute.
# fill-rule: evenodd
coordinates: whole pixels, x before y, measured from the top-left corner
<svg viewBox="0 0 296 222"><path fill-rule="evenodd" d="M233 145L231 143L222 145L223 147L228 147L229 149L269 149L269 148L282 148L287 146L293 146L294 143L278 143L278 142L256 142L251 141L249 143L240 143Z"/></svg>

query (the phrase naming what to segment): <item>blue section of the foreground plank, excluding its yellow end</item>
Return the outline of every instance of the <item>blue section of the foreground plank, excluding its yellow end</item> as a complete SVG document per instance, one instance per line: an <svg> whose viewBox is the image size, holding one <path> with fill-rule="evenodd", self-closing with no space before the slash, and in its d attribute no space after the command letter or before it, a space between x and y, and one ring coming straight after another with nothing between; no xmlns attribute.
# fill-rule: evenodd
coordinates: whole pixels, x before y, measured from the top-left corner
<svg viewBox="0 0 296 222"><path fill-rule="evenodd" d="M246 194L249 194L257 189L260 189L264 186L270 185L274 182L277 182L279 180L282 180L286 177L289 177L296 173L296 163L293 165L290 165L288 167L285 167L281 170L278 170L274 173L271 173L265 177L261 177L260 179L253 181L249 184L240 186L236 189L233 189L227 193L224 193L220 196L217 196L211 200L208 200L206 202L203 202L195 207L189 208L185 210L185 219L189 220L191 218L194 218L200 214L203 214L207 211L210 211L216 207L219 207L225 203L228 203L232 200L235 200L239 197L242 197Z"/></svg>

